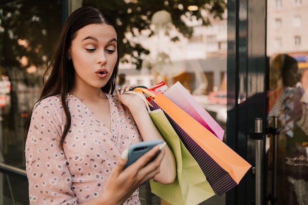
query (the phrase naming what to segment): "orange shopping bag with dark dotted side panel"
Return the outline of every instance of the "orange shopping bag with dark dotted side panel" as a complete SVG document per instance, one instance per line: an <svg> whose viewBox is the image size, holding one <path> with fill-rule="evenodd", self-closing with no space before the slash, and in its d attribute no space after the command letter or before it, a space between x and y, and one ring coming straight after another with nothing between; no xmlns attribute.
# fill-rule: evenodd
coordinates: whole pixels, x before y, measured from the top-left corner
<svg viewBox="0 0 308 205"><path fill-rule="evenodd" d="M240 183L251 167L246 160L164 94L158 93L151 103L153 109L165 112L217 195L223 195Z"/></svg>

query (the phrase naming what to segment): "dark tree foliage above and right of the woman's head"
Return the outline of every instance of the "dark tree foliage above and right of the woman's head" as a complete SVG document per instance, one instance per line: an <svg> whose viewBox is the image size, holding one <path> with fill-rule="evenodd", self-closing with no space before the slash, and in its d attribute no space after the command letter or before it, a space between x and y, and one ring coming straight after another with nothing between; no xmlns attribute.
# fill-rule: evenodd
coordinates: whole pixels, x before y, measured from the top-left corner
<svg viewBox="0 0 308 205"><path fill-rule="evenodd" d="M83 5L94 6L103 9L116 19L120 39L121 61L129 61L126 56L133 57L132 63L137 68L141 67L143 56L149 54L149 50L140 44L132 43L124 34L131 32L134 36L141 30L150 29L153 14L165 10L171 14L172 22L180 33L189 38L192 35L192 28L187 26L183 20L194 16L202 21L202 25L210 25L211 18L220 18L226 9L225 0L83 0ZM189 5L198 6L198 10L188 10ZM150 33L150 36L153 31ZM172 40L177 40L174 37Z"/></svg>

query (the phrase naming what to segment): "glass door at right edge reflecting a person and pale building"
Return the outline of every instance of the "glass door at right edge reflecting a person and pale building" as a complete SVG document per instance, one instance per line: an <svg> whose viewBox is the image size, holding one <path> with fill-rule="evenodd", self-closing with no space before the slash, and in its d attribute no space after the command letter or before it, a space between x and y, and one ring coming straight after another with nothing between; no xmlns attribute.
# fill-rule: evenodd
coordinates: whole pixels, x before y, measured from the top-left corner
<svg viewBox="0 0 308 205"><path fill-rule="evenodd" d="M267 200L307 205L308 1L267 2Z"/></svg>

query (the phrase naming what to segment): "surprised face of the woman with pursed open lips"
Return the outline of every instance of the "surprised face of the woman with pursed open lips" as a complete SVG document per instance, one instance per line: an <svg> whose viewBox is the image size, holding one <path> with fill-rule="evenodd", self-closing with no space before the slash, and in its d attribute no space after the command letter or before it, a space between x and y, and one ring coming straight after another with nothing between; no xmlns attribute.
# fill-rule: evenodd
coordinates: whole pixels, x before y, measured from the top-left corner
<svg viewBox="0 0 308 205"><path fill-rule="evenodd" d="M116 30L106 24L90 24L77 31L68 55L75 68L75 88L102 88L116 65Z"/></svg>

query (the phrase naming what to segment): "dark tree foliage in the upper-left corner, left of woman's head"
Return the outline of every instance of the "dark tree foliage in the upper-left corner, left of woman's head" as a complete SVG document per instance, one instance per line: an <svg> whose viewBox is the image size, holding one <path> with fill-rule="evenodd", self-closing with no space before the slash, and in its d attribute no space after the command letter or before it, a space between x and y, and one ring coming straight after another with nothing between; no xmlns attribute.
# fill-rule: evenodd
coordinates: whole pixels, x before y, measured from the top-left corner
<svg viewBox="0 0 308 205"><path fill-rule="evenodd" d="M1 74L19 69L27 76L24 80L28 85L41 77L43 71L38 69L46 68L59 37L61 7L61 0L21 0L0 5ZM24 64L20 63L23 57L27 59ZM36 73L26 72L31 65L37 68Z"/></svg>

